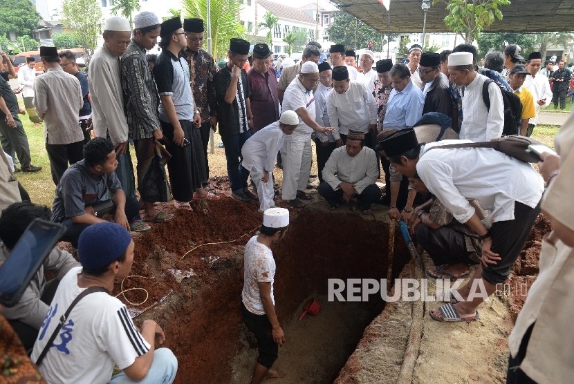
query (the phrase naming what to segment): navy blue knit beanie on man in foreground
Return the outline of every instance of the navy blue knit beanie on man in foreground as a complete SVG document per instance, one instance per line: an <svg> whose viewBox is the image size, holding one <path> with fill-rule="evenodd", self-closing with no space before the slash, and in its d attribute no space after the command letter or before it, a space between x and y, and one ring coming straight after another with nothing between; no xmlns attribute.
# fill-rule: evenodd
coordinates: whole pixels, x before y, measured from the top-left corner
<svg viewBox="0 0 574 384"><path fill-rule="evenodd" d="M93 224L80 235L77 256L86 269L99 269L118 260L131 242L129 232L113 222Z"/></svg>

